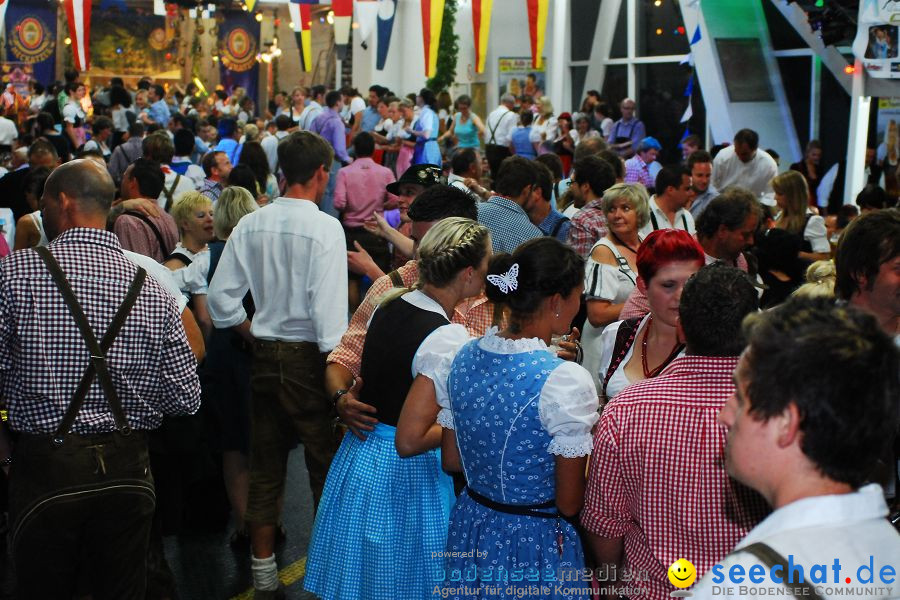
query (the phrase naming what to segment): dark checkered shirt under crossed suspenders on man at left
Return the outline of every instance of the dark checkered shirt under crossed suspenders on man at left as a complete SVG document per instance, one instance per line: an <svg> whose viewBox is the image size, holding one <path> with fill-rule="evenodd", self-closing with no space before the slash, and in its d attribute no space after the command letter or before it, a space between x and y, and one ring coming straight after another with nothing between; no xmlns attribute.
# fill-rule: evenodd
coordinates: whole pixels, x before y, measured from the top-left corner
<svg viewBox="0 0 900 600"><path fill-rule="evenodd" d="M75 228L49 246L98 341L137 267L114 233ZM44 262L33 250L0 261L0 402L13 430L52 433L62 421L90 352ZM155 429L164 414L200 407L197 362L175 299L152 277L107 352L107 365L132 429ZM116 429L94 378L71 432Z"/></svg>

